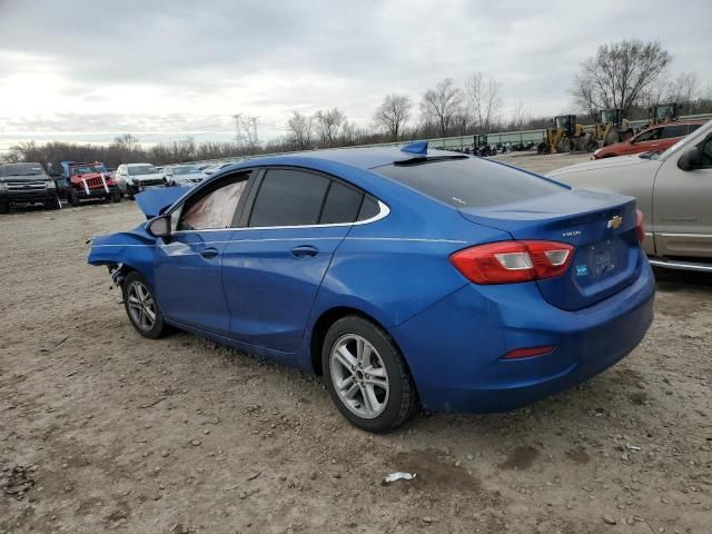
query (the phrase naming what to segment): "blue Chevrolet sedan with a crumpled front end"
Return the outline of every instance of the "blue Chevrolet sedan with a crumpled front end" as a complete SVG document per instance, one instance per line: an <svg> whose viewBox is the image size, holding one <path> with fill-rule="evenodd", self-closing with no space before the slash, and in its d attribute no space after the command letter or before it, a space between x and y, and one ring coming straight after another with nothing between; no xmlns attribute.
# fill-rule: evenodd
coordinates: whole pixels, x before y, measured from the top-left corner
<svg viewBox="0 0 712 534"><path fill-rule="evenodd" d="M423 142L251 159L137 201L148 220L95 238L89 263L138 334L323 375L370 432L572 387L653 319L634 199Z"/></svg>

